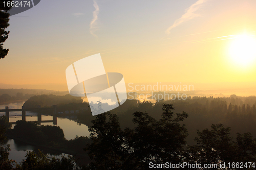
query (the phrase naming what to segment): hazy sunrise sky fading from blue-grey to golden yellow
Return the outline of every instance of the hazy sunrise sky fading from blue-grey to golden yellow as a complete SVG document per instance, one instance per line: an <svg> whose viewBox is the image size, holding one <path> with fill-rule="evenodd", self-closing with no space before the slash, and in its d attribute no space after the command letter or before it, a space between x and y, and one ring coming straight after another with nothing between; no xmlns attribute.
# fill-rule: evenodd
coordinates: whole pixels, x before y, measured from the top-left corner
<svg viewBox="0 0 256 170"><path fill-rule="evenodd" d="M254 0L44 0L10 17L0 88L68 90L66 68L97 53L105 71L120 72L125 83L253 87L255 7Z"/></svg>

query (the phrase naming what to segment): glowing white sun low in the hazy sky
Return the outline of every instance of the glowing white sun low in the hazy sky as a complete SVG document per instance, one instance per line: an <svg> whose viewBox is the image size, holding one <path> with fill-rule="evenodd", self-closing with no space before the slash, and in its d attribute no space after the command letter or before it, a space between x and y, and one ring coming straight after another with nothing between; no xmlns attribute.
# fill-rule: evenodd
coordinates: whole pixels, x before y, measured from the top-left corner
<svg viewBox="0 0 256 170"><path fill-rule="evenodd" d="M256 59L256 40L252 35L237 35L229 47L231 59L239 65L248 66Z"/></svg>

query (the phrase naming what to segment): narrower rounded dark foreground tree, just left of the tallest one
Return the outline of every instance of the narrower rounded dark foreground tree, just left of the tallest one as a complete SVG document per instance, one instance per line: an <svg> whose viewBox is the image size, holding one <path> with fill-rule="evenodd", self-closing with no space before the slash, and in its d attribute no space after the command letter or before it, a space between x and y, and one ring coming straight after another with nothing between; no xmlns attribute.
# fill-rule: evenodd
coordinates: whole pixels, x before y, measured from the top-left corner
<svg viewBox="0 0 256 170"><path fill-rule="evenodd" d="M108 116L108 118L107 118ZM106 121L108 120L108 121ZM93 161L89 169L119 169L124 154L123 132L120 129L118 117L115 114L98 114L94 124L89 128L92 143L84 151L89 151Z"/></svg>

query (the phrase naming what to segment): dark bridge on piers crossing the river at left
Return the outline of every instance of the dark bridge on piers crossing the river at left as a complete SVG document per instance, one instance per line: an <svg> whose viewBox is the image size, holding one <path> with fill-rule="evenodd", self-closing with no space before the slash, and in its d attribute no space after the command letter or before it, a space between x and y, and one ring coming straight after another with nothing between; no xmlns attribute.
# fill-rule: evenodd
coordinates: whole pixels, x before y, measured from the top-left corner
<svg viewBox="0 0 256 170"><path fill-rule="evenodd" d="M22 120L26 120L26 111L52 111L52 113L53 113L52 120L42 120L41 112L37 112L37 121L33 121L33 122L38 122L39 124L52 122L53 125L57 125L57 115L56 115L57 114L57 105L53 105L52 107L49 107L49 108L40 108L40 106L38 106L38 108L24 108L22 106L22 109L9 109L9 107L6 106L5 109L0 109L0 112L5 112L5 116L7 117L8 122L10 122L9 113L15 112L15 111L22 112ZM10 122L10 123L12 125L16 124L16 122Z"/></svg>

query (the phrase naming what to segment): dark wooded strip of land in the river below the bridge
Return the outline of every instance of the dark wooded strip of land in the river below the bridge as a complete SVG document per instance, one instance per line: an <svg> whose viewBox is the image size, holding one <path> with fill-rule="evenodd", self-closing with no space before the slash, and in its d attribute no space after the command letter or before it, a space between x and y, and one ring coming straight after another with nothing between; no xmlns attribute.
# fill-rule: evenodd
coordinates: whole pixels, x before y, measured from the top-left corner
<svg viewBox="0 0 256 170"><path fill-rule="evenodd" d="M18 120L14 128L7 131L7 135L31 144L57 148L61 151L84 156L86 156L86 153L82 149L84 145L91 142L91 139L87 136L76 136L74 139L67 140L63 130L58 126L38 126L35 122L24 120Z"/></svg>

